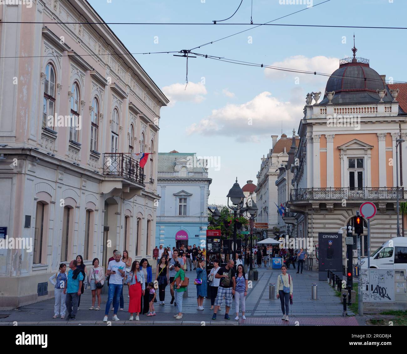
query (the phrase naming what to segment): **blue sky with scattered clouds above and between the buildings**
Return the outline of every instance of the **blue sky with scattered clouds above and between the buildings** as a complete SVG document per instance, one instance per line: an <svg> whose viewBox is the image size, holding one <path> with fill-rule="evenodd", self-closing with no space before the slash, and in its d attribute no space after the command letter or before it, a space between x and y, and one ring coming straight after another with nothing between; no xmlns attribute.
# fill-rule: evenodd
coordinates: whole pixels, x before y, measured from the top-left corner
<svg viewBox="0 0 407 354"><path fill-rule="evenodd" d="M275 24L405 27L406 0L88 0L105 22L212 23L210 25L109 25L130 53L181 51L245 29L196 48L195 53L245 62L331 74L339 59L357 56L386 79L407 81L407 30L298 26ZM287 3L286 3L287 2ZM290 4L294 2L294 4ZM221 25L219 23L245 23ZM308 92L324 96L327 77L237 65L173 54L134 55L170 99L162 107L159 152L195 152L208 158L209 204L226 204L236 177L241 187L257 183L261 158L271 148L271 135L292 136L303 118ZM404 69L404 70L403 70Z"/></svg>

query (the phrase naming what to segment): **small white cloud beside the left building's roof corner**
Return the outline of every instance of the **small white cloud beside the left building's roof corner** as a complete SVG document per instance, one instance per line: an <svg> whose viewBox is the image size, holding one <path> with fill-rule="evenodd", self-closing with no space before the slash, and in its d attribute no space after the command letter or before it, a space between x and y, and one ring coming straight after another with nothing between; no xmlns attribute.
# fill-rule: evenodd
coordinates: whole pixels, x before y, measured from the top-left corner
<svg viewBox="0 0 407 354"><path fill-rule="evenodd" d="M162 88L162 92L170 100L168 106L174 106L177 101L191 101L195 103L204 101L205 97L203 95L206 95L208 92L201 82L195 84L190 81L185 86L186 84L176 83Z"/></svg>

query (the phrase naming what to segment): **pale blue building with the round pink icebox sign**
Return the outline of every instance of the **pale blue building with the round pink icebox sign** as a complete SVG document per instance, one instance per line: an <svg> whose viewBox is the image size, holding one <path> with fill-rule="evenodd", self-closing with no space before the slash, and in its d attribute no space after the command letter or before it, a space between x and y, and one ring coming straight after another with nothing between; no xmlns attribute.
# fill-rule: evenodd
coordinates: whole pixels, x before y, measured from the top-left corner
<svg viewBox="0 0 407 354"><path fill-rule="evenodd" d="M158 154L155 245L204 245L208 229L207 160L196 153ZM205 241L205 242L202 242ZM202 248L202 247L201 247Z"/></svg>

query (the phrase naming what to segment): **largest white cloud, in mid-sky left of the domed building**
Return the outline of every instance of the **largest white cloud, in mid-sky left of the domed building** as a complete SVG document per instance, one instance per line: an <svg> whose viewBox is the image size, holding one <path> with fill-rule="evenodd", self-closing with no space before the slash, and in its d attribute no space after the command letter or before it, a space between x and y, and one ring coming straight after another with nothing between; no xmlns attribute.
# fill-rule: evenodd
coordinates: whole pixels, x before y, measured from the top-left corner
<svg viewBox="0 0 407 354"><path fill-rule="evenodd" d="M261 138L278 132L283 127L297 127L303 117L304 103L279 101L270 92L262 92L243 104L227 104L212 110L209 117L193 123L186 131L206 136L233 136L239 142L259 142ZM251 123L251 124L250 124Z"/></svg>

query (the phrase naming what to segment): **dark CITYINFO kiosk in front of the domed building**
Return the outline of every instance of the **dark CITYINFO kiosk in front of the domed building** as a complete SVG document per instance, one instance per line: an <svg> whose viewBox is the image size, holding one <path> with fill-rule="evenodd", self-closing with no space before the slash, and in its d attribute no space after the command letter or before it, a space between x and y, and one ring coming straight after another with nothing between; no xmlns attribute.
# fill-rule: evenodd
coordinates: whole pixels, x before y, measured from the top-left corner
<svg viewBox="0 0 407 354"><path fill-rule="evenodd" d="M320 232L318 242L319 280L326 280L328 270L342 273L342 234Z"/></svg>

